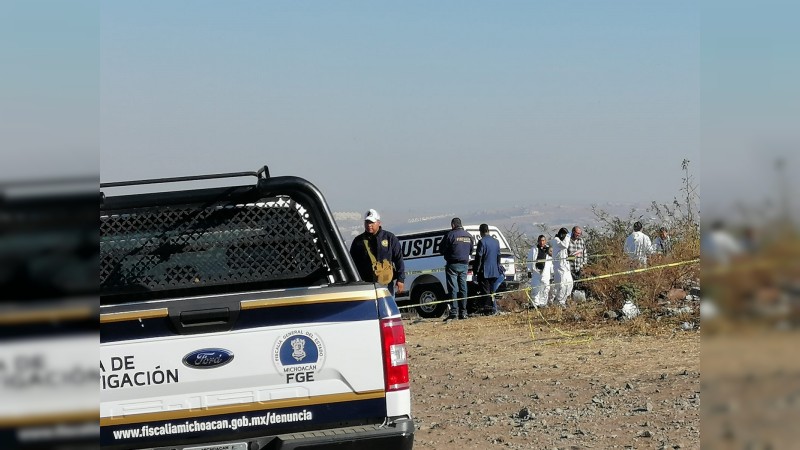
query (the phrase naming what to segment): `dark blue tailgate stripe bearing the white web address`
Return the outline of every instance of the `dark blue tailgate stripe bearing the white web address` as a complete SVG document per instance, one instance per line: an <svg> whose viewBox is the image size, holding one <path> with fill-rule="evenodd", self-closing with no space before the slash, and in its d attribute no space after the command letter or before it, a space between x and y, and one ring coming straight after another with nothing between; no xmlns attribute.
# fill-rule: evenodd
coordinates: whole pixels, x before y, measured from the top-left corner
<svg viewBox="0 0 800 450"><path fill-rule="evenodd" d="M286 414L287 416L281 417ZM291 416L289 416L291 415ZM275 422L275 417L280 417ZM285 422L284 418L295 419ZM379 424L386 417L384 398L322 405L295 406L265 411L240 412L215 416L173 419L100 428L103 448L169 446L205 443L209 440L246 441L256 436L273 436L325 428ZM302 418L302 419L301 419ZM268 423L264 423L269 420ZM233 428L235 424L235 429ZM194 431L188 431L192 427ZM198 428L209 428L198 430ZM211 428L215 427L215 428ZM185 431L185 432L181 432ZM146 433L143 436L143 433ZM152 434L152 436L150 435ZM138 435L138 437L136 436Z"/></svg>

